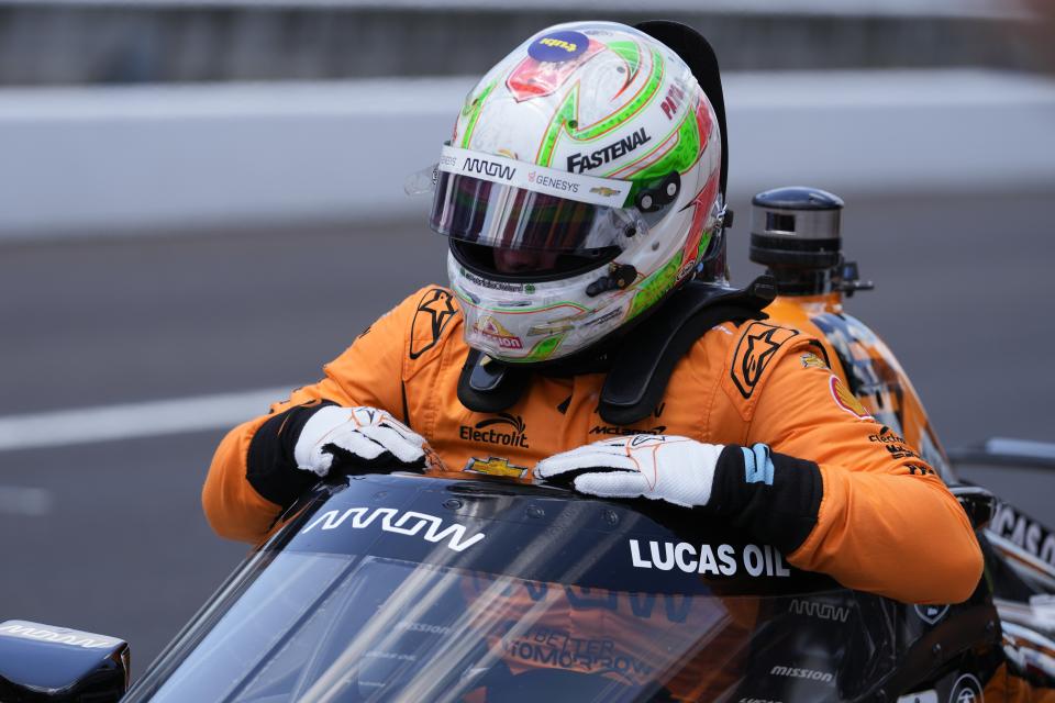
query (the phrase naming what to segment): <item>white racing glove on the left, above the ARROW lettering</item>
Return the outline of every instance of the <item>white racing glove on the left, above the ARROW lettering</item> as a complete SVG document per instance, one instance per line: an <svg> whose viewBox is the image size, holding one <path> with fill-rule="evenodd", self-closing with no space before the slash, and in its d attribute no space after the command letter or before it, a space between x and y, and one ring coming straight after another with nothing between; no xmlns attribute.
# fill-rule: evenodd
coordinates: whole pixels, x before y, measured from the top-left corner
<svg viewBox="0 0 1055 703"><path fill-rule="evenodd" d="M425 438L376 408L329 405L315 412L293 447L297 468L329 473L334 460L355 468L423 470L433 456Z"/></svg>

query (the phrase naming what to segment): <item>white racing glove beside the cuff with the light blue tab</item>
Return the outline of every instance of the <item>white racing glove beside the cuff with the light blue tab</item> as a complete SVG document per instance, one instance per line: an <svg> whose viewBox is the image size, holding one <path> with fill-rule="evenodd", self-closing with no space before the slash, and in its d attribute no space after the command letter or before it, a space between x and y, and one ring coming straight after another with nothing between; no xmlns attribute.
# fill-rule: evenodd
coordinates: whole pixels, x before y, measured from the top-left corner
<svg viewBox="0 0 1055 703"><path fill-rule="evenodd" d="M543 459L541 479L570 480L580 493L651 498L686 507L707 505L723 445L688 437L632 435L602 439Z"/></svg>

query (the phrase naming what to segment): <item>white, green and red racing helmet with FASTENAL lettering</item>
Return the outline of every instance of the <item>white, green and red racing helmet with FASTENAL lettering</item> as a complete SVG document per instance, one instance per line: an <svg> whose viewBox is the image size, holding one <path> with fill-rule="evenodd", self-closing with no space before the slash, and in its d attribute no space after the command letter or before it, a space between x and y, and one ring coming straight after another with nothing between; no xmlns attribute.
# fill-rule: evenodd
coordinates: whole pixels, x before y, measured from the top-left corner
<svg viewBox="0 0 1055 703"><path fill-rule="evenodd" d="M700 270L724 213L719 124L686 62L624 24L558 24L499 62L434 174L466 343L560 359Z"/></svg>

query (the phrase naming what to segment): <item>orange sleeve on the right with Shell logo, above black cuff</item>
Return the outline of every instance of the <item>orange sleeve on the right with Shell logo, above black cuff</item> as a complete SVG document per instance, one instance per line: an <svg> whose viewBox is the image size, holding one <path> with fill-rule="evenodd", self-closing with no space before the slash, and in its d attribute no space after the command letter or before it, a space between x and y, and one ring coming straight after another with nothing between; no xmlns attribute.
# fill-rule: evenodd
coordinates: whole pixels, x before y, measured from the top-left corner
<svg viewBox="0 0 1055 703"><path fill-rule="evenodd" d="M840 583L911 603L966 600L981 574L967 515L941 478L867 415L797 341L757 394L748 444L815 461L817 524L788 561Z"/></svg>

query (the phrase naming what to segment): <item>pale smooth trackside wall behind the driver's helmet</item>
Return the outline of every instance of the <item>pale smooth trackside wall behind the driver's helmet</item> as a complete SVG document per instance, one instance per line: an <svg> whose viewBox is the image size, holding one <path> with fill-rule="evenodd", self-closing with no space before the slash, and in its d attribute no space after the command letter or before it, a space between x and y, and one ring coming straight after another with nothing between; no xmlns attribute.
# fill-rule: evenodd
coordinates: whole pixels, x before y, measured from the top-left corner
<svg viewBox="0 0 1055 703"><path fill-rule="evenodd" d="M730 193L1055 185L1055 81L730 74ZM470 78L0 91L0 237L413 216ZM999 213L993 213L995 219Z"/></svg>

